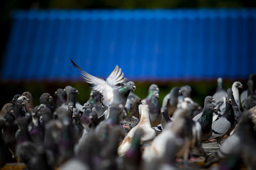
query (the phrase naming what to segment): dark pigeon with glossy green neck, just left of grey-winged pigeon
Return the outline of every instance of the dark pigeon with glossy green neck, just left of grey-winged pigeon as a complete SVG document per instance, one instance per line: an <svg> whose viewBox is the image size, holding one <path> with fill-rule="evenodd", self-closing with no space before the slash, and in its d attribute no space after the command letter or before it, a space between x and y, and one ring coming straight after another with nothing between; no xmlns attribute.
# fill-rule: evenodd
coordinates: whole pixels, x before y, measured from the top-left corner
<svg viewBox="0 0 256 170"><path fill-rule="evenodd" d="M204 112L202 116L197 120L201 125L202 129L202 139L201 141L206 141L211 137L212 134L212 113L215 111L215 105L212 103L207 104L204 107Z"/></svg>

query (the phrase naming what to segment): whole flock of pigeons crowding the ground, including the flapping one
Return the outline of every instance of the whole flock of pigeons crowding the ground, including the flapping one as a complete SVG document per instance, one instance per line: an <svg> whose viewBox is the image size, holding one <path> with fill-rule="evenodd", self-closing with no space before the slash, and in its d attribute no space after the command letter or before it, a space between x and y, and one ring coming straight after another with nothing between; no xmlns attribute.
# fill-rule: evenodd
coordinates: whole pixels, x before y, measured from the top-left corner
<svg viewBox="0 0 256 170"><path fill-rule="evenodd" d="M191 87L173 87L159 103L159 88L150 85L141 100L118 66L105 80L72 64L92 88L81 105L71 86L49 93L33 105L29 92L15 95L0 113L0 167L23 162L26 169L179 169L204 158L205 167L256 169L255 74L248 90L235 81L218 88L201 108L191 99ZM223 139L224 138L224 139ZM207 152L202 143L216 141Z"/></svg>

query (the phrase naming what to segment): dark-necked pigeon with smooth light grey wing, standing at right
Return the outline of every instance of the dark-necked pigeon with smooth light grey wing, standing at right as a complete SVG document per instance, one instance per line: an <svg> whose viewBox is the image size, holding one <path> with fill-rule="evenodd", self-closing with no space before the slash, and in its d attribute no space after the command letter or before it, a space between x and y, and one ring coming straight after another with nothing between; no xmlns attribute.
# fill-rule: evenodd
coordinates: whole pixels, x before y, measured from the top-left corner
<svg viewBox="0 0 256 170"><path fill-rule="evenodd" d="M229 134L234 129L235 125L236 122L234 118L234 110L232 108L232 99L226 97L225 113L212 123L211 139L217 139L217 143L220 145L225 134Z"/></svg>

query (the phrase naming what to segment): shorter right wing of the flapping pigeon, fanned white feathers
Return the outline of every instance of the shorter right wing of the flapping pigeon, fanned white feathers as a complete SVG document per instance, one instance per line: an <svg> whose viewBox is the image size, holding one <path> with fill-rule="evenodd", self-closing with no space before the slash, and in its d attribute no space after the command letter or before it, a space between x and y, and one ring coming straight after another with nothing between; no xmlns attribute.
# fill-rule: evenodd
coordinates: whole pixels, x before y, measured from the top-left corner
<svg viewBox="0 0 256 170"><path fill-rule="evenodd" d="M118 66L116 66L112 73L108 76L107 82L109 85L117 85L118 83L124 82L124 73L122 73L122 70L118 68Z"/></svg>

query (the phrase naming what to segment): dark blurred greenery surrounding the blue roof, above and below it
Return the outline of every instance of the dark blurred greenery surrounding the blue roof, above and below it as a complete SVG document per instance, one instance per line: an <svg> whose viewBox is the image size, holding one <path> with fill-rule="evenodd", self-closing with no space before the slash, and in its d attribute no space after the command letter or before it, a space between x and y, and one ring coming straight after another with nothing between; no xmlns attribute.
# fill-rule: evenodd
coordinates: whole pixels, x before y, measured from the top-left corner
<svg viewBox="0 0 256 170"><path fill-rule="evenodd" d="M39 97L44 92L49 92L52 96L54 95L54 91L58 89L59 87L64 88L66 85L72 85L73 87L76 87L77 90L79 90L80 94L77 96L77 99L79 102L84 103L90 94L90 89L88 88L88 85L84 83L81 79L78 79L77 77L75 79L68 79L63 78L61 80L60 78L54 80L54 78L51 78L47 80L40 79L36 80L34 79L15 79L15 78L4 78L3 72L6 69L3 69L3 63L5 61L4 56L6 56L6 48L8 45L8 40L11 36L11 28L14 27L13 20L12 20L12 13L15 10L52 10L52 9L72 9L72 10L92 10L92 9L177 9L177 8L238 8L238 9L248 9L248 8L255 8L256 1L241 1L241 0L159 0L159 1L152 1L152 0L89 0L89 1L81 1L81 0L30 0L30 1L18 1L18 0L8 0L8 1L1 1L0 8L1 8L1 18L0 18L0 26L1 26L1 39L0 39L0 50L1 50L1 83L0 83L0 89L1 89L1 103L0 106L3 106L4 103L9 103L12 99L12 97L15 94L22 94L24 91L29 91L31 94L33 94L35 104L39 103ZM254 41L254 40L253 40ZM9 49L10 50L10 49ZM15 49L11 49L15 51ZM182 48L180 48L182 50ZM217 50L217 49L216 49ZM250 53L251 54L251 53ZM93 57L93 56L91 56ZM255 56L250 56L251 58L255 58ZM69 62L69 61L68 61ZM83 64L77 63L83 67ZM203 63L204 64L204 63ZM10 68L10 70L15 68ZM26 66L24 69L28 69ZM113 63L113 69L115 67L115 63ZM171 66L170 66L171 67ZM72 65L70 64L67 69L74 69ZM86 69L86 67L83 67L83 69ZM108 68L108 72L109 72ZM110 70L111 70L110 69ZM125 69L124 69L125 70ZM86 70L88 71L88 70ZM229 71L228 67L225 67L225 71ZM90 70L88 71L90 73ZM93 71L92 71L93 72ZM110 73L110 72L109 72ZM108 74L109 74L108 73ZM125 71L124 71L125 73ZM93 74L93 73L92 73ZM130 79L133 80L131 74ZM78 76L78 73L77 73ZM100 75L97 75L100 76ZM237 76L234 74L233 76L224 76L223 86L227 89L228 87L231 87L232 82L234 80L241 80L243 84L246 84L246 77L243 76ZM249 76L249 74L248 74ZM134 78L134 81L136 81L136 94L140 96L141 98L144 98L147 96L147 89L151 83L157 83L159 85L159 88L161 90L160 92L160 101L163 100L163 97L165 94L170 92L170 89L174 86L181 86L181 85L191 85L193 92L193 99L195 99L196 102L202 105L204 101L204 97L207 95L214 94L216 90L216 77L210 77L207 78L205 76L202 76L202 78L196 78L195 80L193 78L183 79L182 77L179 78L177 76L176 78L165 78L165 79L150 79L150 78Z"/></svg>

